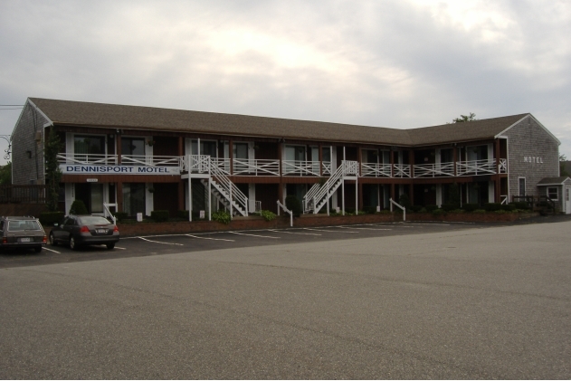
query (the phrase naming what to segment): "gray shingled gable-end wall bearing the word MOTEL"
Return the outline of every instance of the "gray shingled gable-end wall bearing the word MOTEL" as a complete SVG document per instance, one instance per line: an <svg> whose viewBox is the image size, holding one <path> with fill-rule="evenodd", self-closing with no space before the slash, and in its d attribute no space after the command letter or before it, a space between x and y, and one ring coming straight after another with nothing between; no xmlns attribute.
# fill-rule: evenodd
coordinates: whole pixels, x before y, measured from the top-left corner
<svg viewBox="0 0 571 381"><path fill-rule="evenodd" d="M559 144L531 116L501 136L508 137L510 200L519 195L519 177L526 178L526 195L537 196L542 178L559 176Z"/></svg>

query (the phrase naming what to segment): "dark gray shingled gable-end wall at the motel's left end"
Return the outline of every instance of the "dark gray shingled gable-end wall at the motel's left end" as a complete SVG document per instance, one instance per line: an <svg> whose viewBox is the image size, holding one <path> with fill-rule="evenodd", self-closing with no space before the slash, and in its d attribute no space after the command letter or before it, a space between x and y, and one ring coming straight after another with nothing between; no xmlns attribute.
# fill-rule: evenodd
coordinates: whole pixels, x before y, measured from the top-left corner
<svg viewBox="0 0 571 381"><path fill-rule="evenodd" d="M43 184L43 126L48 121L26 104L12 134L12 184ZM36 132L42 139L36 141ZM32 152L28 157L26 151Z"/></svg>

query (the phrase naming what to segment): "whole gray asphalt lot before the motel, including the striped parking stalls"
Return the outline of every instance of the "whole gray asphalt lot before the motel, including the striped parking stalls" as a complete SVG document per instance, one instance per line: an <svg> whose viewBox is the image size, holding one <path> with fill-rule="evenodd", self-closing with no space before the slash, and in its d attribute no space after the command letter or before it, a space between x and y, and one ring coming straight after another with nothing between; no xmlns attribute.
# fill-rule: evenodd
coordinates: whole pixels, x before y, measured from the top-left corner
<svg viewBox="0 0 571 381"><path fill-rule="evenodd" d="M2 253L0 378L568 379L571 221L558 221Z"/></svg>

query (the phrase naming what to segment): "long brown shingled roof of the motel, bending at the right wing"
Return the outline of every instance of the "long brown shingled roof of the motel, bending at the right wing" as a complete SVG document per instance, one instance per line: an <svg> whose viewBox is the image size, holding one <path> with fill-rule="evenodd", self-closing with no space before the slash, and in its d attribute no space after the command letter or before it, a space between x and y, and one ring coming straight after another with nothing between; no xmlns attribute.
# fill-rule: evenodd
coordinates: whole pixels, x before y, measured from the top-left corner
<svg viewBox="0 0 571 381"><path fill-rule="evenodd" d="M197 132L248 137L416 146L494 138L528 114L422 129L386 129L309 120L30 98L54 125Z"/></svg>

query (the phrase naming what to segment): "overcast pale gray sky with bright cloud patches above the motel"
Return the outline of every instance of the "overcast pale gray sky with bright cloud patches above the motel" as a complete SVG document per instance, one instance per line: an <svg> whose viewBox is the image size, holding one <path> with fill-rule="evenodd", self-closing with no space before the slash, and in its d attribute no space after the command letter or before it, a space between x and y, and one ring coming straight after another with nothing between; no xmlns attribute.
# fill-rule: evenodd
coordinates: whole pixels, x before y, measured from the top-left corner
<svg viewBox="0 0 571 381"><path fill-rule="evenodd" d="M569 1L0 5L2 105L41 97L395 129L531 112L571 157ZM2 109L10 135L20 110Z"/></svg>

